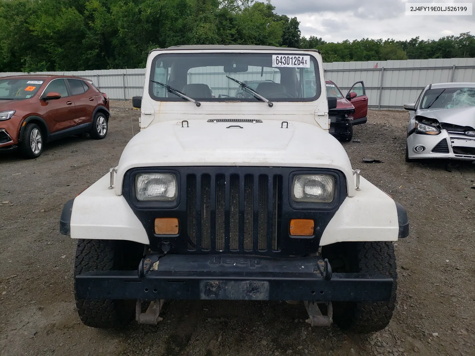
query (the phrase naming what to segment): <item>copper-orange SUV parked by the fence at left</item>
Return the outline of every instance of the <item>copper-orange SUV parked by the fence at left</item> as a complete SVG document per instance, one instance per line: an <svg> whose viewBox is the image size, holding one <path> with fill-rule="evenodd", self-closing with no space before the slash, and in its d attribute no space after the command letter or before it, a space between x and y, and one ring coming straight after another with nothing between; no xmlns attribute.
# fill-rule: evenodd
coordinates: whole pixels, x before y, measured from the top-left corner
<svg viewBox="0 0 475 356"><path fill-rule="evenodd" d="M0 78L0 152L19 148L36 158L44 144L89 133L101 140L109 121L107 95L85 78L16 75Z"/></svg>

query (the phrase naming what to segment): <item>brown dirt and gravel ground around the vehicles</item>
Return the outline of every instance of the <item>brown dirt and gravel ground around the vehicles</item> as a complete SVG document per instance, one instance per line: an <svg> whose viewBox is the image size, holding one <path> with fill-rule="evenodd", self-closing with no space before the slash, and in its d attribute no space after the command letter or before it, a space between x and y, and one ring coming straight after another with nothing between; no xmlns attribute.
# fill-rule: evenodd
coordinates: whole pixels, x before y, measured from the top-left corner
<svg viewBox="0 0 475 356"><path fill-rule="evenodd" d="M0 355L475 355L475 165L405 163L406 112L370 112L344 144L354 168L408 209L397 310L376 334L310 328L303 305L168 301L158 326L85 327L62 206L117 164L138 111L113 103L102 141L68 138L35 160L0 156ZM362 163L362 158L383 163Z"/></svg>

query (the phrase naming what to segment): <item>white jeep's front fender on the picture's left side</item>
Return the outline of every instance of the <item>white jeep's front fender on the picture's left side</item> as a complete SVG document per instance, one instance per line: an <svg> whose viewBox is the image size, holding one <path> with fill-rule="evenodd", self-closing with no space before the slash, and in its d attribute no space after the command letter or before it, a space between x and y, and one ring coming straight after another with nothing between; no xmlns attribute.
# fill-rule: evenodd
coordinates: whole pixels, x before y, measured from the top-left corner
<svg viewBox="0 0 475 356"><path fill-rule="evenodd" d="M108 187L109 174L106 174L74 199L71 237L129 240L148 245L147 233L125 198Z"/></svg>

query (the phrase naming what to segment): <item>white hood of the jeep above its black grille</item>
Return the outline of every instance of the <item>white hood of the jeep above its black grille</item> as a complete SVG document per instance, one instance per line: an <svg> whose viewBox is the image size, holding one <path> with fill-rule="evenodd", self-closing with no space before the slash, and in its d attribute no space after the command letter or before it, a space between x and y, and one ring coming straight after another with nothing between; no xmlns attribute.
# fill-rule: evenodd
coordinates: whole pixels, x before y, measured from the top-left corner
<svg viewBox="0 0 475 356"><path fill-rule="evenodd" d="M182 127L183 126L183 127ZM341 170L353 195L348 155L328 132L304 122L159 122L133 137L117 166L116 194L137 167L260 166Z"/></svg>

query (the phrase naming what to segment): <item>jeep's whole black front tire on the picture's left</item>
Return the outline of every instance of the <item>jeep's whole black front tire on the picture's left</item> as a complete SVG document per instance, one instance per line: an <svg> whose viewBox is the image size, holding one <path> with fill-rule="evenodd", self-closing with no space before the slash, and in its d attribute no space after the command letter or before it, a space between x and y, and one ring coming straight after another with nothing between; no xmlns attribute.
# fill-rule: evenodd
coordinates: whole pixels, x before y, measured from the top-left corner
<svg viewBox="0 0 475 356"><path fill-rule="evenodd" d="M78 240L74 275L90 271L136 269L143 246L127 241ZM93 328L123 328L135 315L135 300L82 300L76 297L81 321Z"/></svg>

